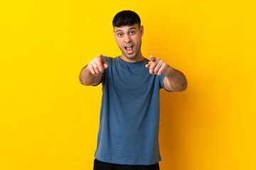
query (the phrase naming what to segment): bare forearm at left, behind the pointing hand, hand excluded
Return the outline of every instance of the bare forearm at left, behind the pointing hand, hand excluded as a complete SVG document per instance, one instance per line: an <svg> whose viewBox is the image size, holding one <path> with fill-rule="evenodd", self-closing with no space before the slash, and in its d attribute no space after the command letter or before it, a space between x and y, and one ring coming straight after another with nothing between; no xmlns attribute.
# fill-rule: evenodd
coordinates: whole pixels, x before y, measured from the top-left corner
<svg viewBox="0 0 256 170"><path fill-rule="evenodd" d="M102 73L97 74L97 76L94 76L87 66L82 68L79 75L80 83L85 86L91 86L100 83L101 77Z"/></svg>

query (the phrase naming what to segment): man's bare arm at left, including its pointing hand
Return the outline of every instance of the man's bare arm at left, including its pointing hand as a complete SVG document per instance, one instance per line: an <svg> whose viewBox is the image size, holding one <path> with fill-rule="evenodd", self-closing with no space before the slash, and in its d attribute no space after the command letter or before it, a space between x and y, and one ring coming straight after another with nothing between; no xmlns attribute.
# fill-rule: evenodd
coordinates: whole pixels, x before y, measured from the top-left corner
<svg viewBox="0 0 256 170"><path fill-rule="evenodd" d="M80 83L85 86L99 84L102 79L102 72L107 67L107 62L105 62L103 55L100 54L82 68L79 75Z"/></svg>

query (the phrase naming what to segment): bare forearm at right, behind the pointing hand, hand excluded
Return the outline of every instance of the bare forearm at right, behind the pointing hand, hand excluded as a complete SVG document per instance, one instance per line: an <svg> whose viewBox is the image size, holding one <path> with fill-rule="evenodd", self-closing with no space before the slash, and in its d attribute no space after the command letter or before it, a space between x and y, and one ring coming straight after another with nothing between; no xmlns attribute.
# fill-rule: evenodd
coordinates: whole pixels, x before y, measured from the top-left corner
<svg viewBox="0 0 256 170"><path fill-rule="evenodd" d="M185 75L177 69L170 67L169 73L166 74L166 79L169 82L168 85L171 86L173 91L184 91L187 88Z"/></svg>

